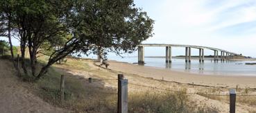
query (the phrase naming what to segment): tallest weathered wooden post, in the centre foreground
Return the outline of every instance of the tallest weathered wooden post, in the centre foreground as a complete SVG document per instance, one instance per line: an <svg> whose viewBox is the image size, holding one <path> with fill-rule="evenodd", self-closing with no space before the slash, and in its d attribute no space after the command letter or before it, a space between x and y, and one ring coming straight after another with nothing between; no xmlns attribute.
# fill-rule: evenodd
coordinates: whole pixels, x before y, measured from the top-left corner
<svg viewBox="0 0 256 113"><path fill-rule="evenodd" d="M118 74L117 113L128 113L128 80Z"/></svg>

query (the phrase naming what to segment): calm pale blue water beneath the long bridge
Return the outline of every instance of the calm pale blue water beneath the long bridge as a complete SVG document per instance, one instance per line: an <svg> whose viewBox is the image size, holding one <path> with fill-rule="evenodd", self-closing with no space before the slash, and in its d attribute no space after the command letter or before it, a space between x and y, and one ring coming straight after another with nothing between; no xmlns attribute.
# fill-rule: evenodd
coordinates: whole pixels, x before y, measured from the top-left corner
<svg viewBox="0 0 256 113"><path fill-rule="evenodd" d="M137 57L110 57L110 60L121 62L134 63L137 62ZM247 65L246 62L256 61L229 61L229 62L214 62L205 60L204 63L199 63L198 60L191 60L191 63L185 63L184 59L172 59L171 64L165 63L165 58L145 58L145 66L162 67L176 71L188 71L191 73L205 73L215 75L236 75L236 76L256 76L256 65Z"/></svg>

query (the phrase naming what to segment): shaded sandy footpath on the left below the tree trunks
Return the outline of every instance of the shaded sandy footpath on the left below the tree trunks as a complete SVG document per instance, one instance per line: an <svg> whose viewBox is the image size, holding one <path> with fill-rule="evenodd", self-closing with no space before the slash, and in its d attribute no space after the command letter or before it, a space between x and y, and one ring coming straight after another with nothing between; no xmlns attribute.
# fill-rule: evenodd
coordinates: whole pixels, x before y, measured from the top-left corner
<svg viewBox="0 0 256 113"><path fill-rule="evenodd" d="M0 112L46 112L58 113L65 112L49 103L44 102L41 98L31 94L22 82L17 80L13 70L6 65L11 65L6 60L0 60Z"/></svg>

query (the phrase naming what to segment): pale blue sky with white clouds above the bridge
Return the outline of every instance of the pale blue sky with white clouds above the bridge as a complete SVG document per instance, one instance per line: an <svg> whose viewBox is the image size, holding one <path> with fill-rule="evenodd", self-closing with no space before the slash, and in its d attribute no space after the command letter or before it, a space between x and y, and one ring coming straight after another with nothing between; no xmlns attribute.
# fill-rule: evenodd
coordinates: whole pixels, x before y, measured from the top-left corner
<svg viewBox="0 0 256 113"><path fill-rule="evenodd" d="M135 5L155 20L155 35L144 44L210 46L256 58L256 0L135 0ZM173 55L184 54L184 48L173 48ZM205 50L209 54L213 51ZM165 49L146 47L145 55L165 55Z"/></svg>

